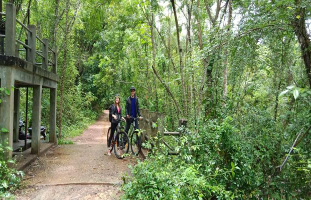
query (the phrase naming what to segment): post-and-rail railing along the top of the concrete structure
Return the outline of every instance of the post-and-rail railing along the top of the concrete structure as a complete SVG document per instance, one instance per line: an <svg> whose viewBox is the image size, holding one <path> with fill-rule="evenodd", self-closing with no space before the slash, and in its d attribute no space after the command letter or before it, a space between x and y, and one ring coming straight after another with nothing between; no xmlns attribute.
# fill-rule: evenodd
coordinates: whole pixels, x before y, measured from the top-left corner
<svg viewBox="0 0 311 200"><path fill-rule="evenodd" d="M49 41L46 38L39 38L36 34L36 26L30 24L27 27L16 18L16 6L14 4L6 4L6 12L0 12L0 15L6 16L6 31L5 34L0 34L0 39L5 38L5 55L13 55L19 57L20 51L26 51L26 60L35 64L41 65L41 68L56 73L57 71L57 48L49 47ZM21 25L27 31L28 38L25 42L16 38L16 23ZM42 50L36 49L37 40L42 43ZM20 45L24 47L19 48ZM52 60L49 59L49 53L52 54ZM40 56L42 62L36 62L36 55Z"/></svg>

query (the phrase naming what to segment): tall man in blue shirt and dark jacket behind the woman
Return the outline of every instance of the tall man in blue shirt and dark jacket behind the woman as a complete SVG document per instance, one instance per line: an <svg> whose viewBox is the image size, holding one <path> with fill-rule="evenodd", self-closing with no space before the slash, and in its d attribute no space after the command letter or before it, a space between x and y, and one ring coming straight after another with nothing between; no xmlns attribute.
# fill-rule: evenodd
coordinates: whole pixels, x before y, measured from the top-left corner
<svg viewBox="0 0 311 200"><path fill-rule="evenodd" d="M125 132L128 133L130 124L133 122L133 118L136 118L137 115L139 116L139 120L141 120L141 114L139 109L139 103L138 103L138 97L135 96L136 89L134 86L130 87L130 96L126 99L125 104L125 115L126 115L126 127ZM131 117L130 117L131 116ZM135 120L136 129L139 129L138 127L138 120Z"/></svg>

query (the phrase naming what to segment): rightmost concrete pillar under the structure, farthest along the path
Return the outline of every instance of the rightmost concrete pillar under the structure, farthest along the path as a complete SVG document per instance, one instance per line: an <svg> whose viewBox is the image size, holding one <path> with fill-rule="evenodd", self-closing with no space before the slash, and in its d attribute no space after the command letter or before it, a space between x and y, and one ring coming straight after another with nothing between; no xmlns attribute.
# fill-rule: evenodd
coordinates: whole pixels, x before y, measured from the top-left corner
<svg viewBox="0 0 311 200"><path fill-rule="evenodd" d="M56 88L50 89L50 142L56 143Z"/></svg>

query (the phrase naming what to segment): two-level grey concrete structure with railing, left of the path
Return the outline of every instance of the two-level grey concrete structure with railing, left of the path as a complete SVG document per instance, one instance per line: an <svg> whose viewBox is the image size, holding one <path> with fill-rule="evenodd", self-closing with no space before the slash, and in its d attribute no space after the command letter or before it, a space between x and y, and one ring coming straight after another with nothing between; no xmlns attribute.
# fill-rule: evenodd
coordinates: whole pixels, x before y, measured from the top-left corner
<svg viewBox="0 0 311 200"><path fill-rule="evenodd" d="M33 113L32 113L32 153L40 152L40 125L41 125L41 99L42 89L50 89L50 142L56 142L56 90L59 80L57 71L57 49L48 46L47 39L40 39L36 35L36 26L22 24L16 19L14 4L6 4L5 54L0 54L0 86L11 89L10 95L2 95L0 103L0 129L6 127L9 132L1 132L1 141L9 141L10 146L18 141L19 116L20 116L20 91L21 87L33 88ZM16 38L16 25L20 24L28 32L28 44ZM42 43L42 49L36 50L36 42ZM22 45L25 49L20 49ZM19 51L26 51L26 57L20 58ZM49 60L52 54L52 60ZM36 55L42 58L42 63L36 62ZM38 60L38 57L37 57ZM51 66L51 67L49 67ZM12 151L7 154L12 158Z"/></svg>

